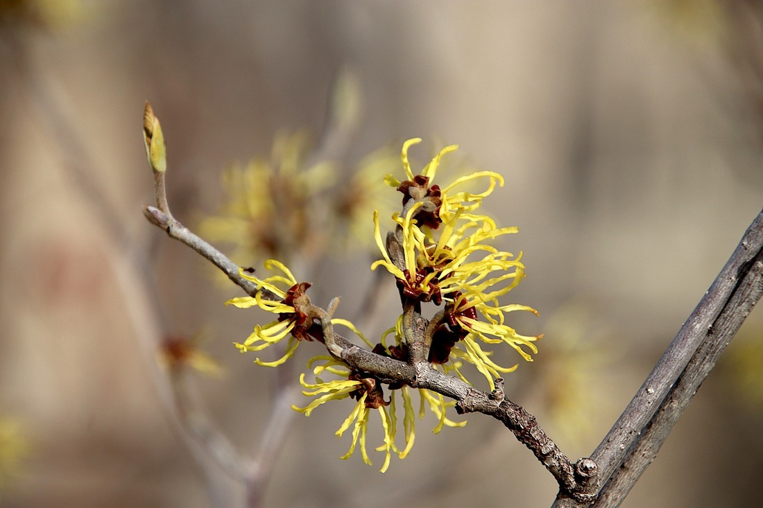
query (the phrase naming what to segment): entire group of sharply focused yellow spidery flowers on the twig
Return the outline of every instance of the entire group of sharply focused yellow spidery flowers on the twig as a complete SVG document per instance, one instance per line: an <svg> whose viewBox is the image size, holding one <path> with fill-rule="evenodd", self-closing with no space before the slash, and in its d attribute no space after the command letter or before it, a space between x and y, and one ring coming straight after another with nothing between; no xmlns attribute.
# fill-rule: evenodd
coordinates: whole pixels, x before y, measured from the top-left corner
<svg viewBox="0 0 763 508"><path fill-rule="evenodd" d="M513 256L488 245L486 242L499 236L516 233L516 227L499 228L494 220L486 215L476 214L482 200L494 191L497 185L503 185L501 175L495 172L475 172L457 178L451 185L439 188L432 185L440 159L456 150L457 146L446 146L423 170L414 175L408 161L408 149L419 138L407 140L402 149L402 165L407 177L404 181L388 175L385 182L394 186L403 194L403 206L400 214L393 214L391 219L396 228L394 242L398 243L398 252L389 252L381 238L379 214L373 215L375 240L382 259L372 264L372 269L383 267L397 281L401 297L408 301L432 302L442 306L442 310L433 317L435 326L428 327L430 332L423 340L427 349L427 361L442 368L446 373L455 373L467 381L462 372L462 365L468 363L485 376L491 388L494 378L501 373L513 371L517 365L502 367L491 358L492 352L483 349L484 344L506 343L520 353L522 358L531 361L531 353L537 351L534 341L540 336L522 336L506 324L506 314L514 310L528 310L530 307L517 304L501 305L498 298L514 288L524 275L521 253ZM469 183L484 181L485 190L468 192L462 190ZM388 240L387 245L389 245ZM310 299L306 294L310 284L298 282L289 269L282 263L270 259L266 268L274 272L267 278L257 278L242 270L241 275L255 282L260 291L256 297L238 297L228 301L237 307L259 307L278 317L272 323L257 325L253 333L236 346L241 352L262 351L288 338L285 354L273 362L259 365L281 365L294 355L300 342L305 340L323 341L323 329L320 323L314 323L314 316L306 309L310 308ZM410 331L405 330L404 317L401 314L397 323L381 337L381 342L373 346L372 342L357 330L353 323L331 318L332 325L343 325L360 336L372 351L378 355L407 362L409 341L414 340ZM430 324L432 324L430 323ZM388 336L394 336L394 344L387 345ZM313 366L317 365L317 366ZM381 471L389 466L391 454L404 458L415 438L415 420L410 392L413 387L404 383L388 384L390 397L385 400L382 382L369 373L356 371L330 356L318 356L308 363L315 381L307 381L301 375L300 381L305 388L304 394L316 397L307 407L295 407L309 415L316 407L329 400L341 400L351 397L356 400L353 410L336 431L342 436L351 426L352 444L349 452L342 458L349 458L359 442L363 460L371 464L365 449L366 429L369 415L377 411L384 429L384 439L377 451L385 453ZM338 378L324 381L326 374ZM420 393L420 410L423 417L427 407L436 416L438 423L434 432L443 426L463 426L466 422L456 423L446 417L446 410L455 403L446 401L441 394L427 390ZM396 407L403 406L404 446L395 444L398 428ZM354 426L353 426L354 424Z"/></svg>

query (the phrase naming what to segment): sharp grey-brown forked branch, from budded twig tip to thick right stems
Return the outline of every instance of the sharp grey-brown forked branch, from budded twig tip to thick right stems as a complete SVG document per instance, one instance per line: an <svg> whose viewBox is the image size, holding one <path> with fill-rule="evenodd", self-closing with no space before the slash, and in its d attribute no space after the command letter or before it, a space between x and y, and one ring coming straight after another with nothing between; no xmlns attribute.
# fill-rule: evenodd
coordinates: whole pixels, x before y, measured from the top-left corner
<svg viewBox="0 0 763 508"><path fill-rule="evenodd" d="M237 265L172 217L166 200L163 137L147 103L144 135L156 191L156 207L143 207L146 219L210 260L246 294L254 297L260 290L255 283L240 275ZM408 204L412 201L414 199ZM399 226L394 233L388 233L385 243L390 259L398 268L404 268ZM406 362L363 349L337 334L331 325L331 317L339 298L334 298L326 310L311 304L310 313L314 320L320 321L322 342L330 355L350 369L373 375L386 384L402 382L450 397L456 400L458 413L478 412L500 420L559 483L559 494L553 506L581 508L619 506L761 294L763 212L749 227L736 252L684 323L623 416L591 458L581 458L575 464L546 435L533 415L507 398L502 378L494 380L493 391L479 391L459 378L436 371L430 365L430 346L437 327L445 319L443 311L436 313L432 320L424 319L420 314L420 301L404 294L401 289L404 339L408 349ZM267 291L262 291L262 296L275 297ZM657 432L661 430L662 433ZM652 447L649 452L642 451L649 446Z"/></svg>

